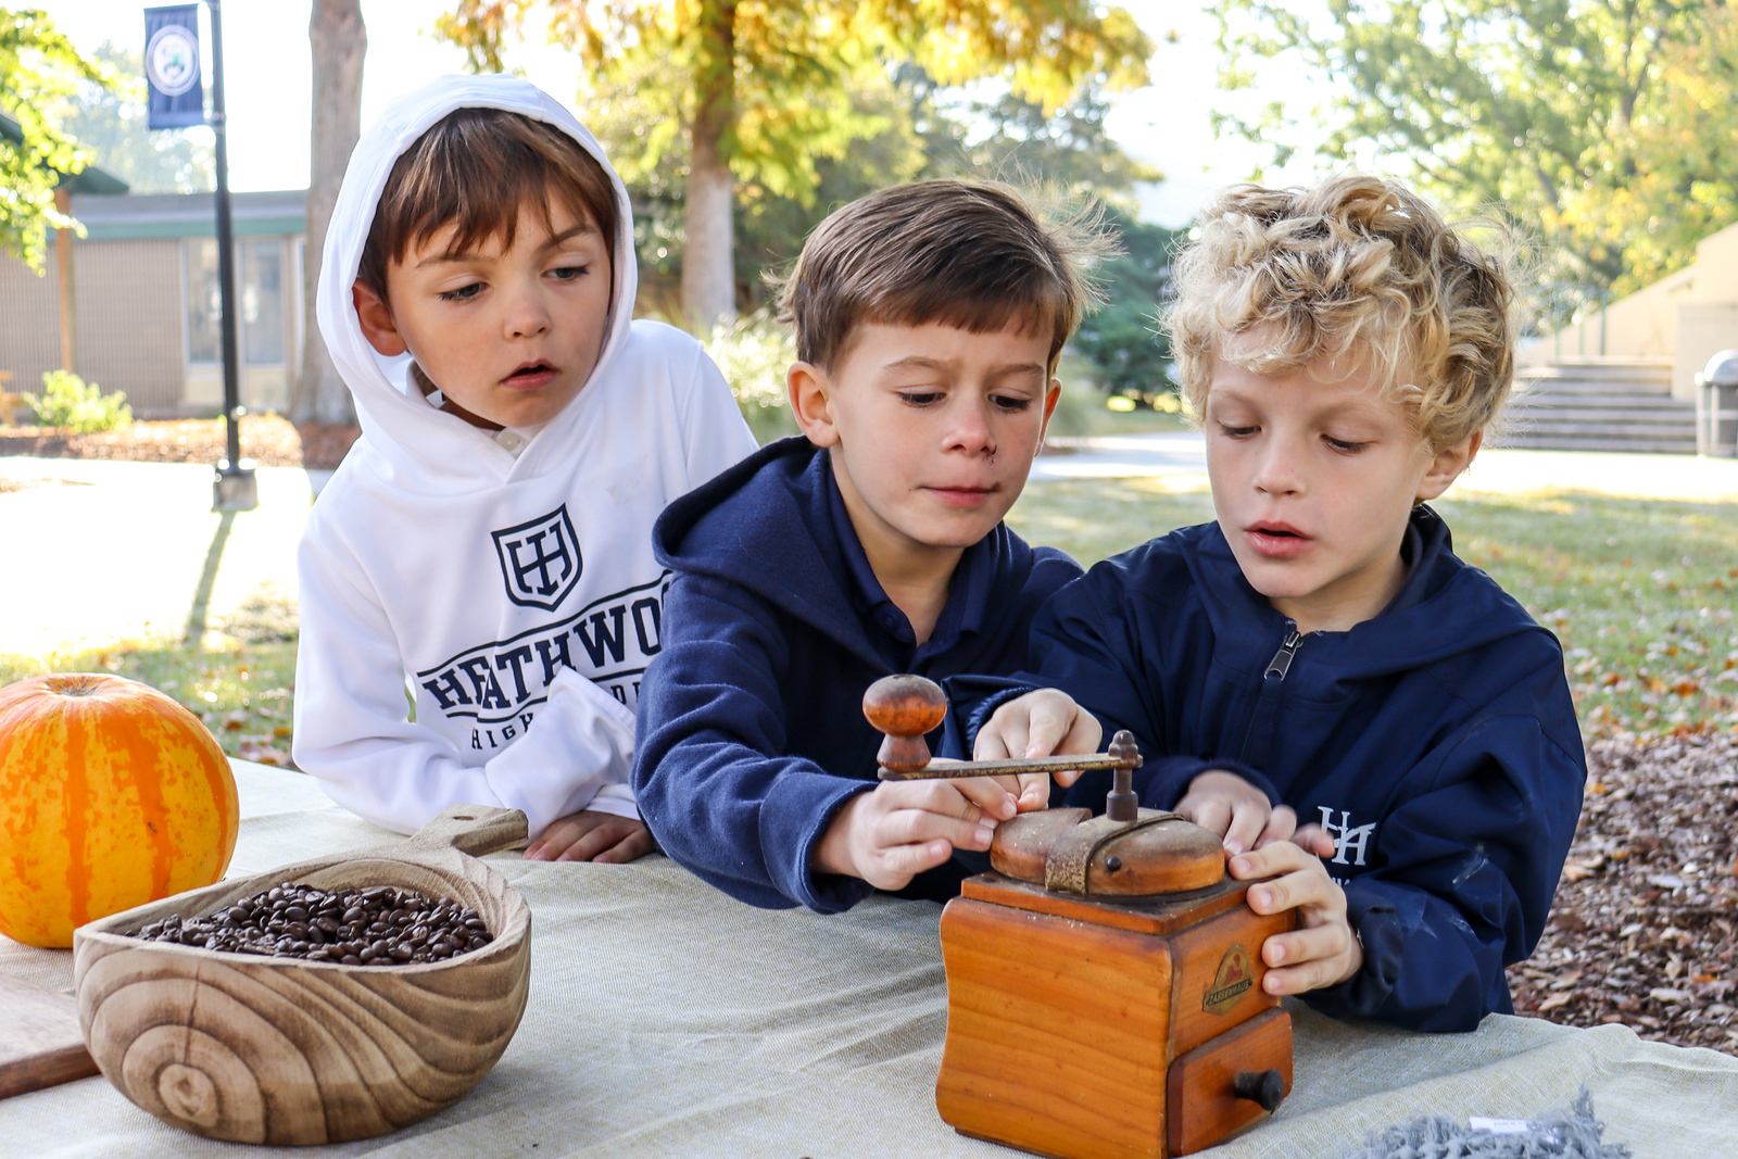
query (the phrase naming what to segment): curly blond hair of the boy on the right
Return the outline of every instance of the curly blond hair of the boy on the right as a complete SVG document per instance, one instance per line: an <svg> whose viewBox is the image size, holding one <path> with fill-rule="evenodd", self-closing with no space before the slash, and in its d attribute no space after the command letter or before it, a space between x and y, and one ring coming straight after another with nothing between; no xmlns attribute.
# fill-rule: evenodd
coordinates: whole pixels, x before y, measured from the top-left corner
<svg viewBox="0 0 1738 1159"><path fill-rule="evenodd" d="M1168 328L1184 401L1204 414L1213 356L1281 375L1324 360L1375 372L1434 452L1496 419L1514 381L1509 259L1397 181L1225 189L1173 264ZM1262 328L1227 351L1222 339Z"/></svg>

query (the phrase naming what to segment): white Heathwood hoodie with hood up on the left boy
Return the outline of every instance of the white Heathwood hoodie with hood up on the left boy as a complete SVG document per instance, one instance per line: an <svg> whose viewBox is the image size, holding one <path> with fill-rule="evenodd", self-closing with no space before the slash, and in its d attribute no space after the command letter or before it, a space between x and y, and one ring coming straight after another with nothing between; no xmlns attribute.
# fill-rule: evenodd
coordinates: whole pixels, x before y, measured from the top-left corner
<svg viewBox="0 0 1738 1159"><path fill-rule="evenodd" d="M511 436L407 386L410 358L377 354L351 304L393 163L459 108L572 136L610 174L620 219L598 367L516 455ZM574 115L523 80L443 76L356 144L318 316L363 434L302 537L294 752L367 820L408 832L448 805L501 805L525 810L535 838L582 808L638 815L634 704L669 584L652 521L754 438L693 339L633 321L636 283L627 189Z"/></svg>

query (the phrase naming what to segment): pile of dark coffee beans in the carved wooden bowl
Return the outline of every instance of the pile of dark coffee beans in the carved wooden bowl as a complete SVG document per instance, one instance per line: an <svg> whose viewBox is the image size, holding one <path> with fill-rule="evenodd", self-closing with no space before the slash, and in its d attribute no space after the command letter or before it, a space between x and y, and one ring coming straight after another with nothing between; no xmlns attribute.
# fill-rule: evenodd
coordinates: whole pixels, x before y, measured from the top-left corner
<svg viewBox="0 0 1738 1159"><path fill-rule="evenodd" d="M412 890L273 886L209 917L170 914L136 938L346 966L438 963L494 942L474 909Z"/></svg>

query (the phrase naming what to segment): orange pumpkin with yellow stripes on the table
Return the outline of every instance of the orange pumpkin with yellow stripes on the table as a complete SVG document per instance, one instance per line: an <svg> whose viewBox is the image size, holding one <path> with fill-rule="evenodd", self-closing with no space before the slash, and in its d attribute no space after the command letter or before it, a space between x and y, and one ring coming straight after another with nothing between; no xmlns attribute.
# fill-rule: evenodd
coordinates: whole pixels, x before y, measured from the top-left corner
<svg viewBox="0 0 1738 1159"><path fill-rule="evenodd" d="M73 926L207 886L229 867L235 777L200 718L106 674L0 688L0 933Z"/></svg>

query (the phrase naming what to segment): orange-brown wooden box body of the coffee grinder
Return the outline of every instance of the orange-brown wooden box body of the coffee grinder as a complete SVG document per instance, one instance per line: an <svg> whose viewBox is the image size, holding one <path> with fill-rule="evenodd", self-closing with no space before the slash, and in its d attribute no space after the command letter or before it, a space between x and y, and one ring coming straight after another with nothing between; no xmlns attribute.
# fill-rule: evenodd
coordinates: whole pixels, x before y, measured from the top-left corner
<svg viewBox="0 0 1738 1159"><path fill-rule="evenodd" d="M935 1084L961 1131L1060 1159L1164 1159L1267 1117L1232 1083L1277 1070L1291 1018L1262 990L1248 883L1098 900L1003 874L942 912L947 1043Z"/></svg>

